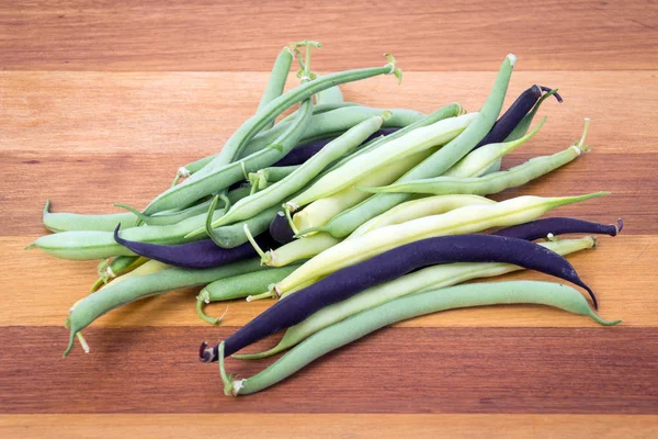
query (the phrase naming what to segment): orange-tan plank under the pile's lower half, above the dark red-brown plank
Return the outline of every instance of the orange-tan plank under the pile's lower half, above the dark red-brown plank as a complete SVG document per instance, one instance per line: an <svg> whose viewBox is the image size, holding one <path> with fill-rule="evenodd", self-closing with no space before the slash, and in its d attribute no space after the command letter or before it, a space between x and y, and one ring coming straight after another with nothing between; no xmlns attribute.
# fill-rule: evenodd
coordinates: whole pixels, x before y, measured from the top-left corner
<svg viewBox="0 0 658 439"><path fill-rule="evenodd" d="M622 318L623 326L658 326L658 237L620 235L601 237L595 250L569 256L580 277L594 290L605 318ZM23 238L0 238L0 254L14 255L1 266L0 325L59 326L70 306L83 297L95 281L95 262L55 259L37 250L16 249L27 244ZM25 277L29 268L30 277ZM535 279L555 281L543 274L519 272L498 280ZM18 289L18 290L16 290ZM20 293L16 293L20 291ZM184 289L146 299L101 317L92 327L202 326L194 309L198 289ZM234 301L224 325L240 326L272 305L271 301ZM220 315L227 304L207 307L209 315ZM415 318L399 326L413 327L597 327L589 318L540 306L484 307L461 309ZM59 331L58 331L59 333ZM60 331L64 342L66 335Z"/></svg>

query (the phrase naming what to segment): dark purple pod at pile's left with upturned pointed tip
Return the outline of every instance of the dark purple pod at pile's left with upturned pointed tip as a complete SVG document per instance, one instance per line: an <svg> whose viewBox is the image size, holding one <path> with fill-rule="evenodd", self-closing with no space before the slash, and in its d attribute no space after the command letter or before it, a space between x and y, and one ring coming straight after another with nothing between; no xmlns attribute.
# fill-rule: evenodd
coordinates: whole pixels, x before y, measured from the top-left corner
<svg viewBox="0 0 658 439"><path fill-rule="evenodd" d="M114 229L114 240L139 256L155 259L170 266L183 268L213 268L257 256L253 246L249 243L241 244L234 248L222 248L212 239L202 239L194 243L164 246L160 244L123 239L118 236L120 227L121 224ZM272 246L272 239L269 239L266 234L265 236L261 235L261 237L258 237L257 241L263 248Z"/></svg>

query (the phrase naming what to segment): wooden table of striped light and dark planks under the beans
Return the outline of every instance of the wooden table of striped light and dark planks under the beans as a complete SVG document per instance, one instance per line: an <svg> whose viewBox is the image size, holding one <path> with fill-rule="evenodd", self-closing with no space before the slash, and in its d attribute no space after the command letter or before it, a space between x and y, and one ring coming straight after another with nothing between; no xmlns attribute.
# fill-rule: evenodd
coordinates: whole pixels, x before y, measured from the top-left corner
<svg viewBox="0 0 658 439"><path fill-rule="evenodd" d="M658 437L657 29L654 1L2 2L0 436ZM500 198L612 192L557 214L623 216L621 236L569 257L601 315L623 325L535 306L441 313L232 399L197 344L269 304L231 304L214 328L184 290L110 313L86 331L90 354L61 359L64 318L95 262L21 250L45 233L45 200L56 212L144 205L179 166L222 147L253 113L279 49L305 37L325 44L320 72L396 55L400 87L343 87L364 104L477 110L508 52L519 56L510 97L559 87L565 103L544 105L546 126L503 166L568 146L585 116L593 151ZM508 277L520 278L544 279Z"/></svg>

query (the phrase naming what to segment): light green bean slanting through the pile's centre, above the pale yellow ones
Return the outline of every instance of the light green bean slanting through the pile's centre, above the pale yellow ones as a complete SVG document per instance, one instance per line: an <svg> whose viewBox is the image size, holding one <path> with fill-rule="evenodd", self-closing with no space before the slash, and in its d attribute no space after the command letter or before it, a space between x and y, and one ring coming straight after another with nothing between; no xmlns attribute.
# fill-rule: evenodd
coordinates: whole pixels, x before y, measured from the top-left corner
<svg viewBox="0 0 658 439"><path fill-rule="evenodd" d="M283 180L238 201L223 217L213 222L213 227L249 218L263 209L276 205L286 196L299 191L332 161L354 149L371 134L379 130L386 117L387 115L373 116L350 128L345 134L327 144L318 154L306 160Z"/></svg>

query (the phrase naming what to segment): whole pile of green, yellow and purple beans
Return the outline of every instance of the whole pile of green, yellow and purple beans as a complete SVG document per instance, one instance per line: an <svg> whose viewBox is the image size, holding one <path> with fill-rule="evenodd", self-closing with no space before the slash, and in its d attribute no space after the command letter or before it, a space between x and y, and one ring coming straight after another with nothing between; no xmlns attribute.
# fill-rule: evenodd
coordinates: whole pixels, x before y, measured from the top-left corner
<svg viewBox="0 0 658 439"><path fill-rule="evenodd" d="M273 299L261 315L202 362L219 362L227 395L273 385L304 365L378 328L419 315L470 306L541 304L601 325L594 292L565 259L595 246L592 234L623 226L540 217L606 195L485 195L515 188L589 151L582 136L566 149L500 170L504 155L529 142L534 116L556 90L534 85L500 115L517 60L508 55L480 111L447 104L431 114L343 101L338 86L379 75L401 81L390 55L382 67L319 77L317 42L285 46L252 117L219 154L181 167L173 184L145 209L79 215L44 210L55 232L30 247L65 259L100 259L91 292L73 304L67 356L82 329L112 309L183 286L201 285L200 317L211 302ZM283 92L297 58L299 86ZM280 116L297 105L288 115ZM276 120L279 120L277 123ZM561 238L563 234L585 234ZM542 239L541 241L536 241ZM530 269L572 286L538 281L466 283ZM593 307L593 309L592 309ZM258 353L236 353L282 329ZM250 360L287 352L262 372L236 380L225 356Z"/></svg>

